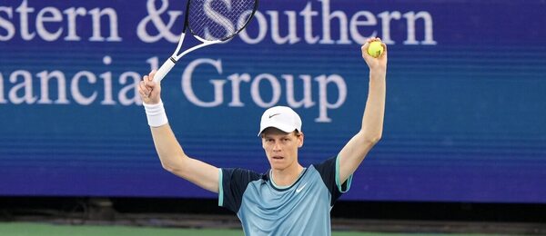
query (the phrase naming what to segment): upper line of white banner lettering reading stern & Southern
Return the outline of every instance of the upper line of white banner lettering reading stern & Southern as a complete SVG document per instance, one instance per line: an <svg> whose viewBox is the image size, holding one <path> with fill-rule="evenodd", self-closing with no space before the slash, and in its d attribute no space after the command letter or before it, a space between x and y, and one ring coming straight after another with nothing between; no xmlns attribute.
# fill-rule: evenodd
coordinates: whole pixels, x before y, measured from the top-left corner
<svg viewBox="0 0 546 236"><path fill-rule="evenodd" d="M217 14L217 8L212 7L214 1L216 0L205 2L204 7L210 10L206 11L207 17L225 30L226 34L222 32L219 34L224 34L224 36L231 34L235 30L233 22L222 15L219 15L222 19L211 17L211 15ZM433 17L429 12L409 11L402 15L399 11L384 11L376 15L369 11L359 11L348 15L344 10L333 9L330 1L307 1L299 11L293 9L282 12L268 10L266 15L257 11L250 22L250 27L248 27L252 30L243 30L238 34L238 38L247 44L259 44L267 40L268 36L274 44L298 44L300 42L305 44L363 44L367 38L378 36L386 44L395 44L397 39L392 38L391 29L398 30L400 27L404 27L407 31L406 38L399 39L400 41L405 40L403 44L438 44L434 40ZM315 5L313 5L314 3ZM228 9L232 7L229 0L220 0L219 4L225 5ZM136 27L136 34L141 41L145 43L155 43L161 39L172 43L178 41L178 33L173 34L172 31L177 28L175 25L181 22L183 13L168 9L169 0L147 0L147 15ZM34 19L31 18L35 12L37 14L33 22ZM237 24L245 24L248 14L246 12L241 15ZM286 17L281 15L286 15ZM90 19L85 21L86 16ZM400 21L402 16L406 18L406 21ZM19 20L16 21L16 18ZM85 7L72 6L62 10L46 6L36 10L28 5L28 0L22 0L21 4L15 8L15 13L12 7L0 6L0 41L12 40L18 34L25 41L35 39L36 35L45 41L56 41L61 37L65 41L80 41L83 34L90 34L87 36L87 40L91 42L119 42L122 41L122 38L119 35L117 18L117 13L113 8L87 10ZM420 20L422 20L422 27L416 25ZM92 30L78 31L78 27L82 27L82 24L86 22L90 22L91 25L87 27ZM315 29L316 27L319 27L319 30ZM421 34L421 29L422 39L416 35ZM208 28L204 31L206 37L222 37L219 34L211 35L214 33Z"/></svg>

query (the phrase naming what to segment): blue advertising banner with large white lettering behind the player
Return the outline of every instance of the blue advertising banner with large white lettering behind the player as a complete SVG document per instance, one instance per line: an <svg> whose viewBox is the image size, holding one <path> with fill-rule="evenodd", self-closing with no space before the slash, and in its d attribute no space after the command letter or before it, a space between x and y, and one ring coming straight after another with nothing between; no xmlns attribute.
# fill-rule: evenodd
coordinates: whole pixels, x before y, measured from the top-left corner
<svg viewBox="0 0 546 236"><path fill-rule="evenodd" d="M184 5L2 2L0 195L216 197L162 169L136 94L174 51ZM377 36L383 138L341 199L544 203L545 12L540 0L261 1L236 38L183 57L162 99L204 162L267 171L256 134L273 105L302 117L300 162L321 162L359 131L360 45Z"/></svg>

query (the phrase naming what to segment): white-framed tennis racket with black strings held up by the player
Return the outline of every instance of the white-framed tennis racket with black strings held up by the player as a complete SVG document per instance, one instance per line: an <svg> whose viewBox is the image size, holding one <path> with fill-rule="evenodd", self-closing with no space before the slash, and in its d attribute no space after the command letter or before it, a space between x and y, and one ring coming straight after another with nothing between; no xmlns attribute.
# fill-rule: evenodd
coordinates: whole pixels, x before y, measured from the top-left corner
<svg viewBox="0 0 546 236"><path fill-rule="evenodd" d="M248 25L257 9L258 0L187 0L184 28L177 50L159 67L154 81L161 82L185 54L233 38ZM201 44L179 54L188 30Z"/></svg>

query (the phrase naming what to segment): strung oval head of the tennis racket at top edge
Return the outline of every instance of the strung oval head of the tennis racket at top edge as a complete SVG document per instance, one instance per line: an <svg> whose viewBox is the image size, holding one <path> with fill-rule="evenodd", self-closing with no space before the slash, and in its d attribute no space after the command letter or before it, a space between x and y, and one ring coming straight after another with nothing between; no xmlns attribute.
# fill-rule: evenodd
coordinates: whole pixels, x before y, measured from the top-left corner
<svg viewBox="0 0 546 236"><path fill-rule="evenodd" d="M227 41L248 25L258 0L188 0L186 25L203 42Z"/></svg>

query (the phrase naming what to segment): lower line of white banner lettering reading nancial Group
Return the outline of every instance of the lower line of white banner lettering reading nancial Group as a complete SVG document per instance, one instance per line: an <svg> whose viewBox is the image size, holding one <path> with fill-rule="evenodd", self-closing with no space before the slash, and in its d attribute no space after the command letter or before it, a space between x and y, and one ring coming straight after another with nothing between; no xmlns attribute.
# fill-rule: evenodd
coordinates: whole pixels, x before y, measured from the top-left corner
<svg viewBox="0 0 546 236"><path fill-rule="evenodd" d="M148 58L146 62L152 69L157 68L156 56ZM103 64L106 66L112 64L112 58L106 55L103 57ZM220 59L200 58L187 64L181 78L182 92L190 103L199 107L217 107L223 105L224 101L229 101L225 104L227 107L244 107L250 101L263 108L278 103L288 103L293 108L316 106L319 116L315 121L329 123L332 121L329 117L329 110L341 107L347 97L347 85L338 74L319 74L313 78L310 74L280 74L278 76L256 74L253 76L248 73L234 73L224 79L209 79L208 83L213 85L212 89L203 89L203 85L199 84L199 96L213 96L212 100L207 101L207 99L198 97L195 93L197 87L193 87L193 82L195 82L193 80L200 77L196 74L203 74L197 73L197 69L205 70L207 72L205 74L210 74L212 69L213 74L217 73L218 75L222 75L224 69ZM6 90L3 74L0 73L0 103L34 104L37 101L38 104L74 102L78 105L89 105L99 103L100 100L97 98L102 97L104 93L104 99L100 101L100 105L141 105L142 101L137 93L138 83L141 80L140 74L127 71L120 74L117 80L113 74L115 73L111 71L102 74L79 71L70 78L70 81L67 81L66 75L61 71L41 71L35 75L40 86L37 90L39 94L35 96L33 90L35 82L33 82L30 72L19 70L10 74L9 81L14 85ZM99 79L102 80L102 83L98 83ZM224 85L228 81L228 84L231 85L230 98L229 95L225 97L224 91ZM317 85L314 85L313 81L316 81ZM67 88L68 84L70 88ZM337 93L329 95L332 89L337 89ZM9 94L5 97L5 91L8 90ZM69 93L67 94L67 92ZM313 100L313 93L318 94L315 98L316 101ZM56 96L56 100L52 96Z"/></svg>

